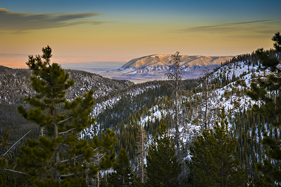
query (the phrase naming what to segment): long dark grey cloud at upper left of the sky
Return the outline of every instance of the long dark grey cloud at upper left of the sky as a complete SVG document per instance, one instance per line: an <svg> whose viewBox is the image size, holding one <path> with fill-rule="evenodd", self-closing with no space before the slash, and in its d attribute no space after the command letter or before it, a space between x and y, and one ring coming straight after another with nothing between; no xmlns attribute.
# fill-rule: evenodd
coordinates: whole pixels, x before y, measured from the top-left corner
<svg viewBox="0 0 281 187"><path fill-rule="evenodd" d="M29 30L59 28L77 24L102 24L90 18L100 13L87 12L79 14L26 14L10 12L0 8L0 33L19 33Z"/></svg>

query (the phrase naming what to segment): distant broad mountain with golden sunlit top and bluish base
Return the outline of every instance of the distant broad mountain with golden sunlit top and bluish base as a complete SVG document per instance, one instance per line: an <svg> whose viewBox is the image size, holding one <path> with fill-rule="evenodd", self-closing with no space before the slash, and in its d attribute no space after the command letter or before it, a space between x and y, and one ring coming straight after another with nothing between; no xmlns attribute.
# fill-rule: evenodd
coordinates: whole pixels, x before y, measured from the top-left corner
<svg viewBox="0 0 281 187"><path fill-rule="evenodd" d="M198 78L203 70L213 70L230 60L233 56L188 56L180 55L180 66L185 71L184 79ZM100 72L102 76L111 78L150 77L154 79L165 78L170 62L174 60L172 54L154 54L135 58L123 65L120 69Z"/></svg>

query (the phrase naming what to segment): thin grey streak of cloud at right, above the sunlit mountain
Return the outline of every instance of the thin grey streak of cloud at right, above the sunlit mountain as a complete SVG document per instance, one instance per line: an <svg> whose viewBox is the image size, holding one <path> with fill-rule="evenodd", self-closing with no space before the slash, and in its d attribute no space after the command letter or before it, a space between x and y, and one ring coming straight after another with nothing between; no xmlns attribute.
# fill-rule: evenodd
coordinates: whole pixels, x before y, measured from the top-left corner
<svg viewBox="0 0 281 187"><path fill-rule="evenodd" d="M218 32L218 33L226 33L226 32L234 32L239 30L248 30L248 31L259 31L263 32L263 29L268 29L268 27L273 27L276 21L275 20L259 20L252 22L237 22L237 23L225 23L225 24L216 24L216 25L206 25L206 26L197 26L197 27L187 27L184 29L176 30L176 32ZM256 25L255 23L259 23ZM263 23L263 25L260 25ZM267 25L264 24L272 23Z"/></svg>

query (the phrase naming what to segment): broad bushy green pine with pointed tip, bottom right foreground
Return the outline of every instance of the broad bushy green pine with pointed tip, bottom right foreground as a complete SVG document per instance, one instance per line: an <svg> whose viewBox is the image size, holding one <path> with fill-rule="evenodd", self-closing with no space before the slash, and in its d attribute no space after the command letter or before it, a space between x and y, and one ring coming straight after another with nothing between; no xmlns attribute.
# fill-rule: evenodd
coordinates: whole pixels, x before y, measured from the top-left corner
<svg viewBox="0 0 281 187"><path fill-rule="evenodd" d="M240 168L236 154L236 140L231 140L225 111L222 109L220 125L198 136L190 146L191 175L195 187L243 187L247 186L246 172Z"/></svg>

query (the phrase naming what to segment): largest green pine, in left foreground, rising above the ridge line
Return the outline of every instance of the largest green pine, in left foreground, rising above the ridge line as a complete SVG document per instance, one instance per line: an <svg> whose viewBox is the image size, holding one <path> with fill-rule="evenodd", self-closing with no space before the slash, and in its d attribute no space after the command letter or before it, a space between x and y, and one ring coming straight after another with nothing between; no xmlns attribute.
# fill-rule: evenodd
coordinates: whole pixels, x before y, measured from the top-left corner
<svg viewBox="0 0 281 187"><path fill-rule="evenodd" d="M26 63L32 70L30 80L36 95L25 98L29 110L19 106L18 111L44 128L46 136L26 140L27 146L20 147L17 160L21 171L10 172L28 176L37 187L79 187L86 175L95 177L98 170L112 166L114 154L104 156L99 164L91 158L102 149L113 150L115 134L107 130L100 139L79 140L78 134L95 120L89 117L94 92L90 90L83 97L66 100L65 94L74 80L58 64L51 63L51 47L43 47L42 51L43 59L39 55L29 56Z"/></svg>

